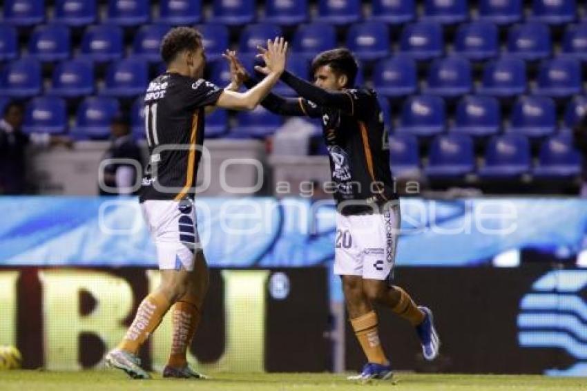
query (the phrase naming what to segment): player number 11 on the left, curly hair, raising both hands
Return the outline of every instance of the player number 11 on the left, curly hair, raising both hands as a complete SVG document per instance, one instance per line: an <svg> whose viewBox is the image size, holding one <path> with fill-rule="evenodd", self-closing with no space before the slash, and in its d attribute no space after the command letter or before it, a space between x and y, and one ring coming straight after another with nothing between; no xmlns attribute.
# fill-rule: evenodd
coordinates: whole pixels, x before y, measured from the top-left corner
<svg viewBox="0 0 587 391"><path fill-rule="evenodd" d="M206 260L198 238L194 187L204 142L204 111L213 107L253 110L278 82L285 68L287 42L267 41L260 54L268 76L246 93L220 89L202 79L206 56L198 30L173 28L161 44L166 73L146 90L145 127L150 162L139 202L157 249L161 284L137 309L119 345L106 354L106 364L134 379L151 376L137 352L173 307L173 343L164 377L200 378L186 362L208 289ZM229 52L227 52L229 53Z"/></svg>

